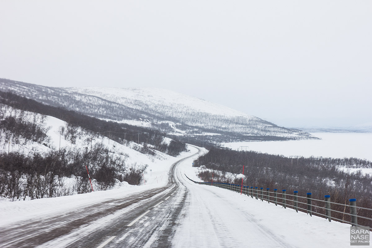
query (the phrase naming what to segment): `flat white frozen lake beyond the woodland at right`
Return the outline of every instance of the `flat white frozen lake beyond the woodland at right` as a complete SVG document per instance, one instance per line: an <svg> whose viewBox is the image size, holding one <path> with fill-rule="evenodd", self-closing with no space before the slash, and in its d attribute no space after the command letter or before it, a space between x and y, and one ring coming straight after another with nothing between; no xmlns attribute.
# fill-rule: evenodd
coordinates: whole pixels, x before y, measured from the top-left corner
<svg viewBox="0 0 372 248"><path fill-rule="evenodd" d="M321 140L260 141L224 143L225 147L303 157L355 157L372 161L372 133L311 133ZM245 151L246 148L243 148Z"/></svg>

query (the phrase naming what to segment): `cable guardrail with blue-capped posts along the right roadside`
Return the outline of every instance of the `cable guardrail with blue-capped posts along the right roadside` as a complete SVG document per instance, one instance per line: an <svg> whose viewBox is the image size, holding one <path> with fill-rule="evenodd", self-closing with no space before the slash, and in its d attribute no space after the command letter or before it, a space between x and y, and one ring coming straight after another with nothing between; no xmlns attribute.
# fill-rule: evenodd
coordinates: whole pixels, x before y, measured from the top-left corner
<svg viewBox="0 0 372 248"><path fill-rule="evenodd" d="M185 174L187 177L187 175ZM282 193L278 192L278 189L273 189L270 191L269 188L259 188L253 186L241 186L237 184L230 184L230 183L206 183L206 182L197 182L191 180L187 177L190 181L193 181L196 184L204 184L210 185L215 187L220 187L223 189L235 191L246 196L250 196L253 199L261 200L262 202L267 203L274 203L276 206L282 206L283 208L292 208L296 210L296 212L301 211L305 212L308 215L312 216L320 216L325 219L328 219L330 222L331 220L335 220L342 223L349 223L352 226L372 226L372 209L366 207L358 207L356 206L356 199L349 199L349 205L337 202L330 201L330 195L325 195L324 200L321 199L314 199L312 198L311 193L307 193L306 196L299 196L298 191L294 191L293 194L288 194L285 189L282 190ZM340 211L343 209L343 211ZM338 210L336 210L338 209ZM361 216L357 214L357 210L361 209L364 212L368 213L367 216ZM342 215L342 219L336 218L332 216L334 215L340 216ZM358 223L358 219L359 222ZM372 231L372 228L369 228Z"/></svg>

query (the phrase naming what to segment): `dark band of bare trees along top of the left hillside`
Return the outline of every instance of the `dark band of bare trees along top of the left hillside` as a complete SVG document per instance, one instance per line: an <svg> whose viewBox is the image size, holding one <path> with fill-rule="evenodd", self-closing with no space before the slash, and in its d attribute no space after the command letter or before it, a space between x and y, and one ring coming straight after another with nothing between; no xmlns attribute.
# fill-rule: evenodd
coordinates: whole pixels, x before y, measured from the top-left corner
<svg viewBox="0 0 372 248"><path fill-rule="evenodd" d="M170 150L171 153L173 153L173 148L169 149L168 145L163 142L166 134L157 130L97 119L60 107L45 105L11 92L0 91L0 103L12 106L16 109L53 116L64 120L69 123L70 130L80 126L81 128L100 133L119 143L128 140L138 144L153 145L153 149L158 149L162 152ZM146 152L150 151L147 149Z"/></svg>

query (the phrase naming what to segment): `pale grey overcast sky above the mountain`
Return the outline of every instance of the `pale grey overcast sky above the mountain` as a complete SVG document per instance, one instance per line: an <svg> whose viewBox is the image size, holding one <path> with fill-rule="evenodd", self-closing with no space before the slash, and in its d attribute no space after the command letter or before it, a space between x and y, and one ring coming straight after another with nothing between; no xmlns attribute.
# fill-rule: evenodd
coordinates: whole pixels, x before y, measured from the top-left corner
<svg viewBox="0 0 372 248"><path fill-rule="evenodd" d="M167 88L280 126L358 125L372 123L371 27L369 0L0 0L0 78Z"/></svg>

